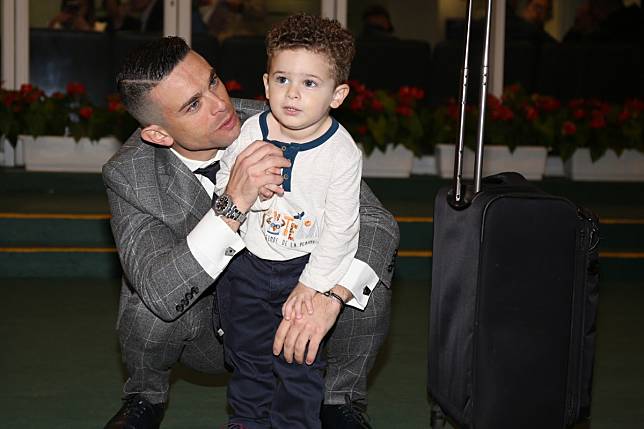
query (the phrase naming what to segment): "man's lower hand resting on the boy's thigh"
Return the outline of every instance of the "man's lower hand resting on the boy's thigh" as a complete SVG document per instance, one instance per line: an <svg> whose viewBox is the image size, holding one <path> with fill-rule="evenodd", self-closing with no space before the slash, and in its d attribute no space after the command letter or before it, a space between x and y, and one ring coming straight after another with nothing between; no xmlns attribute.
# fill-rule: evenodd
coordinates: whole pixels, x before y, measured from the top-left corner
<svg viewBox="0 0 644 429"><path fill-rule="evenodd" d="M333 292L344 298L345 302L351 296L351 292L342 286L336 286ZM313 296L313 314L304 313L301 319L282 320L273 341L273 354L279 356L284 350L284 359L288 363L295 360L297 363L304 362L311 365L320 348L320 343L335 322L342 310L342 305L335 299L326 297L320 293Z"/></svg>

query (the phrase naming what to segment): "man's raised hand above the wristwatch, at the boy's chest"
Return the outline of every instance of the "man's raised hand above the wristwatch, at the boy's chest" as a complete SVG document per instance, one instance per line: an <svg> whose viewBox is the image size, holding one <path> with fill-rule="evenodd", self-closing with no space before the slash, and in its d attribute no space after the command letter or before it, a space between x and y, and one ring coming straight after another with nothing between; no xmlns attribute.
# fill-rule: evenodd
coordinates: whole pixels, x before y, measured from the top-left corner
<svg viewBox="0 0 644 429"><path fill-rule="evenodd" d="M279 148L255 141L237 156L225 192L245 213L257 199L260 189L278 192L277 187L283 180L281 169L290 165Z"/></svg>

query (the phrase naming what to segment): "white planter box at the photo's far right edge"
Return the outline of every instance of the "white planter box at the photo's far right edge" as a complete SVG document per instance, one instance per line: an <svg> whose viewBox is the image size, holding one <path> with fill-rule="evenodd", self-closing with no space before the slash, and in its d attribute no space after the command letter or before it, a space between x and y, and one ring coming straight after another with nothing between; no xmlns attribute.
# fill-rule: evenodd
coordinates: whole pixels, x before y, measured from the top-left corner
<svg viewBox="0 0 644 429"><path fill-rule="evenodd" d="M589 149L577 149L566 161L564 170L572 180L639 182L644 181L644 154L629 149L618 157L608 150L592 162Z"/></svg>

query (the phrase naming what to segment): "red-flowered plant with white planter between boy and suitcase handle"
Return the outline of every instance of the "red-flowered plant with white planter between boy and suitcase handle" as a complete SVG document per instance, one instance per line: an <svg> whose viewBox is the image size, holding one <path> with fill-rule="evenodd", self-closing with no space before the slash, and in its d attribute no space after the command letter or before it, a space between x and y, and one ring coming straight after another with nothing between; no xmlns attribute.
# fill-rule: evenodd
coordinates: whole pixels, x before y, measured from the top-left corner
<svg viewBox="0 0 644 429"><path fill-rule="evenodd" d="M334 115L364 152L365 177L408 177L414 154L428 141L430 109L422 104L422 89L371 90L358 81Z"/></svg>

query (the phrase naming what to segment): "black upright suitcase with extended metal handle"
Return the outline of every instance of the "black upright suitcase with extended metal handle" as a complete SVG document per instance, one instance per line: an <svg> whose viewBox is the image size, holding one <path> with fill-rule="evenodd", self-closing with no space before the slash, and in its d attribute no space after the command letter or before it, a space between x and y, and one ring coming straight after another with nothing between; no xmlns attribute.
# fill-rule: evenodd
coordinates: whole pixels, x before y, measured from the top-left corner
<svg viewBox="0 0 644 429"><path fill-rule="evenodd" d="M490 12L488 0L481 94ZM470 17L471 0L468 33ZM469 34L462 100L468 41ZM473 186L461 181L461 126L454 184L435 200L427 387L438 407L431 426L444 424L444 413L459 428L570 427L590 415L597 218L518 173L481 179L485 97L480 111Z"/></svg>

